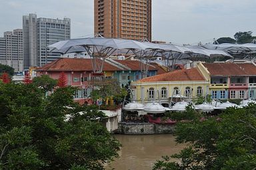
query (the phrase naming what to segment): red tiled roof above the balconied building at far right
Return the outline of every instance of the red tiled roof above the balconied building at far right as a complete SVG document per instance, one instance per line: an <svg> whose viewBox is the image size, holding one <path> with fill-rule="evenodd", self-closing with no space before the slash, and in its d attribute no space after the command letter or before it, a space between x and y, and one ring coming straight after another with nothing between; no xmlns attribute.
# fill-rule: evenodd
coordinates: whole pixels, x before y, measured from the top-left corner
<svg viewBox="0 0 256 170"><path fill-rule="evenodd" d="M253 63L203 63L211 75L256 75Z"/></svg>

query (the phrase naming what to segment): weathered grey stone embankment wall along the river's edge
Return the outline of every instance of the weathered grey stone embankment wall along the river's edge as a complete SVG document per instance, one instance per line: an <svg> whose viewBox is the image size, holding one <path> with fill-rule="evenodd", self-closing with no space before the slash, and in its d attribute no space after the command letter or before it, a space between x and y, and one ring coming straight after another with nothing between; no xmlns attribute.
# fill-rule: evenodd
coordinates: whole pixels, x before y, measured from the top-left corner
<svg viewBox="0 0 256 170"><path fill-rule="evenodd" d="M175 125L155 123L119 123L119 133L125 135L149 135L173 133Z"/></svg>

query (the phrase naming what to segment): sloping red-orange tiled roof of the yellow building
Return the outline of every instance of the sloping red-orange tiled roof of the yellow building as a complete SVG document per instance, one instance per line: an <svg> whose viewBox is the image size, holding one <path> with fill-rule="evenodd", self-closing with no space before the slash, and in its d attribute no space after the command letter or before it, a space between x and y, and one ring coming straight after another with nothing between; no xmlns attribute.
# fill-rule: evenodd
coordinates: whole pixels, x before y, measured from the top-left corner
<svg viewBox="0 0 256 170"><path fill-rule="evenodd" d="M139 82L156 82L156 81L205 81L203 75L197 68L180 69L161 75L155 75L141 79Z"/></svg>

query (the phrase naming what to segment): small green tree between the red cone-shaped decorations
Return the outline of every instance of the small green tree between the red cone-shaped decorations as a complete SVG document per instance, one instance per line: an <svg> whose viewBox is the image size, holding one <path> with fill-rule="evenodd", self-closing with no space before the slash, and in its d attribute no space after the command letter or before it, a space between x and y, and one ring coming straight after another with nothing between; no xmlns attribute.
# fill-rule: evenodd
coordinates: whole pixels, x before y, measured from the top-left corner
<svg viewBox="0 0 256 170"><path fill-rule="evenodd" d="M33 79L33 84L37 87L41 87L45 93L48 91L53 91L54 87L57 85L57 80L51 79L49 75L41 75L41 77L35 77Z"/></svg>

